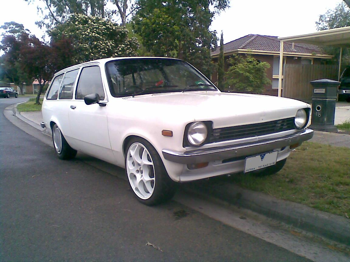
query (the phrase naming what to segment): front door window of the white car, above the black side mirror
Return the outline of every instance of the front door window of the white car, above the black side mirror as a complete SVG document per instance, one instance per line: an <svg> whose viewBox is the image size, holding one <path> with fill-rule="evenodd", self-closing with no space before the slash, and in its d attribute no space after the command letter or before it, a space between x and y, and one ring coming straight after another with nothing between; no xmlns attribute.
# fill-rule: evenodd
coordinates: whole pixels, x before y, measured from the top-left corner
<svg viewBox="0 0 350 262"><path fill-rule="evenodd" d="M90 94L99 94L100 99L105 99L103 84L99 66L84 67L78 80L76 99L84 99L84 96Z"/></svg>

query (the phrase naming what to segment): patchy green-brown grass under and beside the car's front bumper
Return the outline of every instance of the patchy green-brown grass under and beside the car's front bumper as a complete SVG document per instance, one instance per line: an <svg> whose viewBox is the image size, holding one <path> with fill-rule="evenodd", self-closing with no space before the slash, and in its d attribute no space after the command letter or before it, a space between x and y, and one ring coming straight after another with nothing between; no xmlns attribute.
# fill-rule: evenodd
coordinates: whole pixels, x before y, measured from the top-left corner
<svg viewBox="0 0 350 262"><path fill-rule="evenodd" d="M350 217L350 148L304 142L272 176L232 175L241 187Z"/></svg>

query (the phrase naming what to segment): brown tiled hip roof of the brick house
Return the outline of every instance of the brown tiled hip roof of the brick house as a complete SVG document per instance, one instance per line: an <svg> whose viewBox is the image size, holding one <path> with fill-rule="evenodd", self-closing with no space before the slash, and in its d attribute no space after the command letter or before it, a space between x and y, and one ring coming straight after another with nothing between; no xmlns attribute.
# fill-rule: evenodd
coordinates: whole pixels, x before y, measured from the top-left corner
<svg viewBox="0 0 350 262"><path fill-rule="evenodd" d="M277 36L250 34L224 44L224 53L232 52L237 49L279 52L280 41L277 39ZM287 42L283 44L283 52L325 54L322 49L316 45L295 43L292 49L292 43ZM218 46L216 50L211 51L211 56L215 56L219 53L220 47Z"/></svg>

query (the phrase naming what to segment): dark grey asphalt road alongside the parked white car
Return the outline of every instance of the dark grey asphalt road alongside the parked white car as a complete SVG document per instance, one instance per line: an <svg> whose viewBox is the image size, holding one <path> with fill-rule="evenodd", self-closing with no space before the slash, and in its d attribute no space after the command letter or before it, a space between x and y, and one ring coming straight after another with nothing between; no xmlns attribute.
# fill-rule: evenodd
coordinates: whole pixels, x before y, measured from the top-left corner
<svg viewBox="0 0 350 262"><path fill-rule="evenodd" d="M125 180L59 160L4 117L24 100L0 99L0 261L306 261L179 203L142 205Z"/></svg>

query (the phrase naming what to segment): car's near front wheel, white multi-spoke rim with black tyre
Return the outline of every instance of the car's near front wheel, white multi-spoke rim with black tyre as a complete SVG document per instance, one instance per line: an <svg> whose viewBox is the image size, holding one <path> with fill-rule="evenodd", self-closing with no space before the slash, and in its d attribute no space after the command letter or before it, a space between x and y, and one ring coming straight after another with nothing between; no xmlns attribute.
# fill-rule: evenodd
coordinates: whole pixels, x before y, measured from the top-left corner
<svg viewBox="0 0 350 262"><path fill-rule="evenodd" d="M158 152L145 139L132 139L125 154L126 174L134 195L145 205L157 205L172 198L172 181Z"/></svg>

